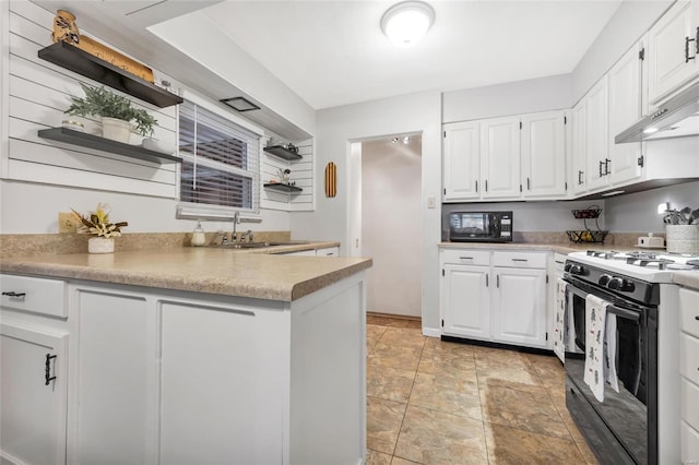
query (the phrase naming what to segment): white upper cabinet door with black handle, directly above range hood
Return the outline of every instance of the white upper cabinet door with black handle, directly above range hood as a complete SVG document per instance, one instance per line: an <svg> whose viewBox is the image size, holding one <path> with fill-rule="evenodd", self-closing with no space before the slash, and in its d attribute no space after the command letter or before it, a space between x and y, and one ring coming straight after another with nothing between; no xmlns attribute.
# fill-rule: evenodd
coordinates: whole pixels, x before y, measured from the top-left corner
<svg viewBox="0 0 699 465"><path fill-rule="evenodd" d="M696 1L678 1L648 33L648 99L657 104L699 73Z"/></svg>

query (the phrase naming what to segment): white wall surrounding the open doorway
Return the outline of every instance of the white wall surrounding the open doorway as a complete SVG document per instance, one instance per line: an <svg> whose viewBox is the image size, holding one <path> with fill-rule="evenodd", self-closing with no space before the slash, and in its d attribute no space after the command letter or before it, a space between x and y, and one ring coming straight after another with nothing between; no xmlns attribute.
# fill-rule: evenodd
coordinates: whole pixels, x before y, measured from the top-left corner
<svg viewBox="0 0 699 465"><path fill-rule="evenodd" d="M423 331L439 334L439 261L440 210L427 208L427 198L437 202L441 190L441 96L437 92L386 98L356 105L320 110L316 119L317 208L315 212L292 213L294 237L339 240L346 254L351 240L348 227L348 158L351 143L389 134L422 132L423 181L422 218L415 230L423 231L423 241L415 253L423 255ZM337 196L325 198L323 170L328 162L337 165Z"/></svg>

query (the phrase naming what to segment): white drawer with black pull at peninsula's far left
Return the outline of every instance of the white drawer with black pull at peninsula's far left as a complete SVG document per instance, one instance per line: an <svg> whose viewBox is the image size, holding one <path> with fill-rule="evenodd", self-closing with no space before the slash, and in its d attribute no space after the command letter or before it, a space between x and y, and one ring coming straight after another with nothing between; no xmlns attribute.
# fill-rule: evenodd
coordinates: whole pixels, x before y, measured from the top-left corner
<svg viewBox="0 0 699 465"><path fill-rule="evenodd" d="M68 317L64 281L3 274L0 276L0 289L2 308Z"/></svg>

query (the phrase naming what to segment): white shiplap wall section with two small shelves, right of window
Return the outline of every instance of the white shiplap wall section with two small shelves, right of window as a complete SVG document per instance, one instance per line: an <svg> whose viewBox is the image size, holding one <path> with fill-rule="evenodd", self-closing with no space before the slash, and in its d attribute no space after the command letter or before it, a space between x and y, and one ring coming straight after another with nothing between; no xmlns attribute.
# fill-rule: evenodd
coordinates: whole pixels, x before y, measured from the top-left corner
<svg viewBox="0 0 699 465"><path fill-rule="evenodd" d="M279 138L275 138L279 140ZM280 179L280 168L292 170L289 179L304 191L299 193L276 192L262 187L260 206L262 208L284 210L292 212L313 210L313 140L293 142L298 147L301 159L286 162L274 155L260 151L260 181L262 184L270 180Z"/></svg>

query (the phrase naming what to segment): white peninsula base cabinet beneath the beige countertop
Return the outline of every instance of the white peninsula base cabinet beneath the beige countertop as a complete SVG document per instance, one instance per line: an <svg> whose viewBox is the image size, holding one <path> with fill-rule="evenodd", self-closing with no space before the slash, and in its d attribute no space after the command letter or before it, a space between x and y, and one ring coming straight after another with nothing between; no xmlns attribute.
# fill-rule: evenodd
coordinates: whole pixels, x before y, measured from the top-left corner
<svg viewBox="0 0 699 465"><path fill-rule="evenodd" d="M364 461L364 274L293 302L8 277L2 465Z"/></svg>

